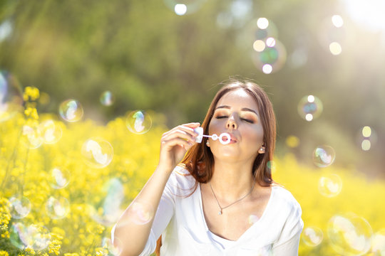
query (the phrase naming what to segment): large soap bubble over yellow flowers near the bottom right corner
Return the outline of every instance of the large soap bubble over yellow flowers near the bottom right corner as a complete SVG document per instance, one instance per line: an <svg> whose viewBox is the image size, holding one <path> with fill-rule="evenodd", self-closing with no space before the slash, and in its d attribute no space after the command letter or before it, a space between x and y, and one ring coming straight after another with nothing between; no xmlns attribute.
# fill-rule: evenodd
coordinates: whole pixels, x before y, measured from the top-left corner
<svg viewBox="0 0 385 256"><path fill-rule="evenodd" d="M352 213L334 215L327 225L330 245L342 255L363 255L368 252L372 233L367 220Z"/></svg>

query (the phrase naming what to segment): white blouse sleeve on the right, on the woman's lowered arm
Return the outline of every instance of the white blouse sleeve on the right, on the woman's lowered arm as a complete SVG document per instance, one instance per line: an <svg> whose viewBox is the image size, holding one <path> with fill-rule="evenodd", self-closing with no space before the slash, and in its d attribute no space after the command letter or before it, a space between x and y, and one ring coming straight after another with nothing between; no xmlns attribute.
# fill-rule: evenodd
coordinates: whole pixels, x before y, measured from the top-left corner
<svg viewBox="0 0 385 256"><path fill-rule="evenodd" d="M284 222L281 234L272 247L274 256L294 256L298 255L299 238L304 228L302 221L302 209L290 194L287 206L287 219Z"/></svg>

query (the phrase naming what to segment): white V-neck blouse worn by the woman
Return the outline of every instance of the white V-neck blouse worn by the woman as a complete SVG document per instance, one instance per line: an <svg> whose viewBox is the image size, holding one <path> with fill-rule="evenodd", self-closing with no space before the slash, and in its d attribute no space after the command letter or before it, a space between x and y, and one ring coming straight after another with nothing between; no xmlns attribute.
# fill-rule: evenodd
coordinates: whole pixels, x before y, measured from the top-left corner
<svg viewBox="0 0 385 256"><path fill-rule="evenodd" d="M188 171L176 167L168 179L150 237L140 256L155 251L162 235L160 255L298 255L299 236L304 223L302 210L292 194L280 186L272 186L264 213L236 241L220 238L207 228L202 208L200 186ZM188 197L186 197L188 196ZM115 228L112 230L112 234Z"/></svg>

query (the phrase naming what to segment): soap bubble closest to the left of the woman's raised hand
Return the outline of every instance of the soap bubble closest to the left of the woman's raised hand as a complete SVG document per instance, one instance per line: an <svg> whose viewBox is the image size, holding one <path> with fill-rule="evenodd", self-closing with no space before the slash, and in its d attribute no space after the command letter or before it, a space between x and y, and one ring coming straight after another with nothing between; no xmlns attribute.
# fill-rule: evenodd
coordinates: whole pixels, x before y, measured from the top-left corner
<svg viewBox="0 0 385 256"><path fill-rule="evenodd" d="M153 121L149 114L136 110L127 115L125 125L134 134L144 134L151 129Z"/></svg>

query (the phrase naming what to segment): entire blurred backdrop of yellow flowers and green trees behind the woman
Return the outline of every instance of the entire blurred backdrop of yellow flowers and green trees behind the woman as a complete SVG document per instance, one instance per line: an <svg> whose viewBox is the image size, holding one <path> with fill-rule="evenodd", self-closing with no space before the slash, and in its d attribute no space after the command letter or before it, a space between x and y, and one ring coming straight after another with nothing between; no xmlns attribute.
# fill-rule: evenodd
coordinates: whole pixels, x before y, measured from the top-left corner
<svg viewBox="0 0 385 256"><path fill-rule="evenodd" d="M111 228L161 134L202 122L229 78L273 102L269 168L302 206L299 255L385 255L384 13L384 0L0 0L0 256L119 255ZM154 213L141 207L138 225Z"/></svg>

